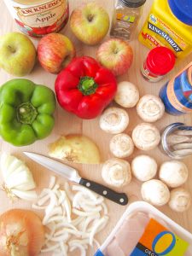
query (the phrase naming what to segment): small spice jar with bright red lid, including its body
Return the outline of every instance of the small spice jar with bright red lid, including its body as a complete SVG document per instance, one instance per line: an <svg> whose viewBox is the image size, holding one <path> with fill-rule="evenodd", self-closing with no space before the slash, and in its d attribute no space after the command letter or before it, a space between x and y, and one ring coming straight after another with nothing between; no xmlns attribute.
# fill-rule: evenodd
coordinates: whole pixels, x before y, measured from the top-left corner
<svg viewBox="0 0 192 256"><path fill-rule="evenodd" d="M170 72L175 64L175 55L171 49L156 47L151 49L141 67L143 78L149 82L157 82Z"/></svg>

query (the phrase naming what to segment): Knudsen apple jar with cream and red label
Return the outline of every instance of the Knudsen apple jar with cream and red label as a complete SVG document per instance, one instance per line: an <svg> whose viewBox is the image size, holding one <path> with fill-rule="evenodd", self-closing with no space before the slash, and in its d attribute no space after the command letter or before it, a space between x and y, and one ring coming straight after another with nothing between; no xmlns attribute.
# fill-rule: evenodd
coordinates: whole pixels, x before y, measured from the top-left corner
<svg viewBox="0 0 192 256"><path fill-rule="evenodd" d="M41 38L67 24L68 0L4 0L21 32Z"/></svg>

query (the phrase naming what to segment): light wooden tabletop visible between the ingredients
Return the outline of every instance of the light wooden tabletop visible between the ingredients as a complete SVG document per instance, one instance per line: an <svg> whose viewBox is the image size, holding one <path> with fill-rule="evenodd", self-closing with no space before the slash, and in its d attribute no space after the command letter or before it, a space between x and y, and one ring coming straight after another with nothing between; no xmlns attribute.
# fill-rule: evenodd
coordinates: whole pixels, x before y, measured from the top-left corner
<svg viewBox="0 0 192 256"><path fill-rule="evenodd" d="M70 11L72 11L74 8L79 6L79 0L69 0L69 2L70 2ZM96 2L101 3L103 7L105 7L108 10L108 14L111 17L112 10L113 10L113 1L97 0ZM143 79L140 73L140 67L148 53L148 49L138 42L137 34L144 20L146 19L146 16L148 15L148 11L152 3L153 3L153 0L148 0L146 2L143 9L143 16L141 17L141 20L135 32L135 37L134 37L135 40L131 41L130 43L134 51L134 60L131 65L131 68L127 73L125 73L125 75L120 76L118 78L118 81L127 80L133 84L137 84L141 96L145 94L158 95L160 87L163 84L165 84L166 81L172 77L172 75L176 74L178 70L180 70L182 67L188 64L189 61L191 60L191 55L190 55L188 58L180 61L177 64L177 66L174 68L174 70L172 70L171 73L166 75L165 79L161 80L156 84L148 83L146 80ZM3 0L0 1L0 10L1 10L0 34L3 35L6 32L18 31L18 28L15 25L15 21L9 14L8 9L5 7L3 3ZM90 47L80 43L79 40L73 36L68 24L61 31L61 33L71 38L71 40L73 41L73 44L75 45L75 48L77 49L77 55L90 55L93 57L96 56L96 49L98 48L98 46ZM106 40L107 38L108 36L104 38L104 40ZM32 41L34 42L35 45L38 44L38 39L32 39ZM14 79L14 77L10 76L8 73L5 73L3 70L0 70L0 83L3 84L9 79ZM34 68L34 70L30 75L26 76L26 79L32 79L32 81L37 84L46 84L47 86L49 86L49 88L54 90L55 75L46 73L44 69L40 67L39 64L36 65L36 67ZM113 105L115 105L115 103L113 103ZM130 125L128 126L125 132L131 135L131 131L133 130L133 128L137 124L141 123L142 120L137 116L135 108L129 108L126 110L130 115ZM78 133L78 134L84 134L87 137L92 138L100 148L100 151L102 154L102 160L103 161L108 160L109 158L113 157L113 155L110 154L109 152L109 146L108 146L109 140L112 136L105 133L99 128L98 120L99 120L98 118L92 119L92 120L79 119L75 117L73 114L67 113L63 111L59 106L57 106L57 109L55 111L55 128L48 138L42 141L38 141L30 146L21 147L21 148L16 148L14 146L11 146L9 143L5 143L3 142L3 140L0 140L1 150L15 154L16 156L20 157L21 160L25 160L27 166L30 167L30 169L32 170L32 173L34 174L35 180L38 183L38 188L39 189L44 188L44 186L49 181L49 175L51 174L51 172L39 166L38 164L32 162L32 160L27 159L26 156L22 154L22 151L26 150L26 151L32 151L32 152L41 153L41 154L47 154L49 143L55 142L55 140L58 137L60 137L61 134L67 135L72 133ZM192 123L191 115L186 114L180 117L175 117L166 113L162 119L160 119L155 123L155 125L160 129L160 131L162 131L162 129L165 128L166 125L169 125L176 121L191 125ZM131 160L138 154L143 154L143 152L135 148L134 154L132 154L131 157L129 157L127 160L131 162ZM153 156L155 160L157 160L159 165L160 163L162 163L162 161L169 160L169 158L160 151L160 148L156 148L155 150L148 151L147 154ZM189 167L189 179L187 183L184 184L184 187L186 189L189 189L192 195L192 186L191 186L192 157L188 157L183 161ZM96 182L104 184L102 180L102 175L101 175L102 165L77 165L77 164L74 165L73 164L71 166L75 166L79 170L79 173L82 177L86 177ZM0 180L0 183L1 182L2 180ZM59 182L62 183L64 182L64 180L60 177ZM141 187L141 183L139 183L136 179L133 178L131 181L131 184L125 186L125 188L123 189L119 189L119 191L120 192L123 191L127 193L127 195L129 195L130 202L140 201L142 200L141 194L140 194L140 187ZM108 222L108 226L106 227L106 229L103 230L102 233L97 237L101 243L102 241L105 240L105 238L108 236L111 230L113 230L114 225L117 223L122 213L125 212L125 207L121 207L111 201L107 201L107 204L108 204L110 221ZM11 201L8 200L4 192L0 190L0 213L8 210L9 208L14 208L14 207L30 208L30 204L23 201L17 201L13 204ZM191 221L192 207L190 207L189 211L185 213L173 212L167 206L160 207L159 209L160 211L166 213L168 217L172 218L175 222L177 222L177 224L182 225L183 228L192 232L192 221ZM88 255L91 256L92 253L89 253Z"/></svg>

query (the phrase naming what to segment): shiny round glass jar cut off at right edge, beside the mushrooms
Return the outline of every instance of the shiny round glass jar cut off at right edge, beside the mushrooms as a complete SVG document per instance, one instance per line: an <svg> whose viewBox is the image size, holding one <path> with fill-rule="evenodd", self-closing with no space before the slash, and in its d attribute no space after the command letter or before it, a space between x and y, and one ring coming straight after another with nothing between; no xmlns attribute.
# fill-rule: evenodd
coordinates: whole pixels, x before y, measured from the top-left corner
<svg viewBox="0 0 192 256"><path fill-rule="evenodd" d="M192 126L183 123L168 125L161 136L163 150L173 159L192 154Z"/></svg>

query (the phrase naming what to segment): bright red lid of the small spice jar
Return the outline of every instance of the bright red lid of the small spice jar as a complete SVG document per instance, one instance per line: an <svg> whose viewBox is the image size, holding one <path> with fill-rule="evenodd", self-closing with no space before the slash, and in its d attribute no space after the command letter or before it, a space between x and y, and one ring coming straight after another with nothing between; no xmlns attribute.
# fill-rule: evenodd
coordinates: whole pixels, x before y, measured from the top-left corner
<svg viewBox="0 0 192 256"><path fill-rule="evenodd" d="M175 55L171 49L160 46L149 51L146 66L151 73L165 75L172 70L174 65Z"/></svg>

